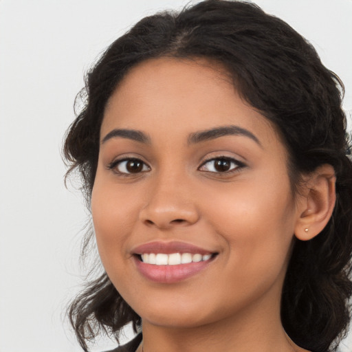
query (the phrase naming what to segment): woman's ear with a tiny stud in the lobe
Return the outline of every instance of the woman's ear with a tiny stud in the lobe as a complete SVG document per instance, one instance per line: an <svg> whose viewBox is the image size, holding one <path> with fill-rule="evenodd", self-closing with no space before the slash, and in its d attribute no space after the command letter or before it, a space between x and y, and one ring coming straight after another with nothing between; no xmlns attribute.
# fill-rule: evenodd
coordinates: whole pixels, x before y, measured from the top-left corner
<svg viewBox="0 0 352 352"><path fill-rule="evenodd" d="M314 238L327 225L336 201L335 183L335 172L329 164L305 177L294 232L301 241Z"/></svg>

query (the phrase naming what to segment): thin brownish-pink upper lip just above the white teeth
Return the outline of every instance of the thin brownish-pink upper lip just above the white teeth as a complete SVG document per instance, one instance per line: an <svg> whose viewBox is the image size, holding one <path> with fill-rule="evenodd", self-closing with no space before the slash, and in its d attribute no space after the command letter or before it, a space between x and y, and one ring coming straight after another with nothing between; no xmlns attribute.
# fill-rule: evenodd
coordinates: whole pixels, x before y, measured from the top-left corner
<svg viewBox="0 0 352 352"><path fill-rule="evenodd" d="M143 254L143 253L190 253L190 254L212 254L214 251L206 250L205 248L198 247L197 245L192 245L190 243L181 241L153 241L138 245L131 250L133 254Z"/></svg>

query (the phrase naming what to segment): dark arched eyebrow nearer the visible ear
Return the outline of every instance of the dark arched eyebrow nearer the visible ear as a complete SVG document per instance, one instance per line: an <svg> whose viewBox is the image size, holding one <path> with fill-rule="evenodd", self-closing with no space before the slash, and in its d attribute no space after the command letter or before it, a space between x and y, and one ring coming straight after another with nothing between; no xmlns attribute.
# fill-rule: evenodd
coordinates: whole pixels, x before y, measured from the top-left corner
<svg viewBox="0 0 352 352"><path fill-rule="evenodd" d="M188 137L188 144L214 140L215 138L223 137L225 135L243 135L245 137L249 137L251 140L254 140L254 142L256 142L256 144L259 146L262 146L261 142L259 142L259 139L252 132L248 131L248 129L243 129L242 127L234 125L219 126L215 127L214 129L192 133Z"/></svg>

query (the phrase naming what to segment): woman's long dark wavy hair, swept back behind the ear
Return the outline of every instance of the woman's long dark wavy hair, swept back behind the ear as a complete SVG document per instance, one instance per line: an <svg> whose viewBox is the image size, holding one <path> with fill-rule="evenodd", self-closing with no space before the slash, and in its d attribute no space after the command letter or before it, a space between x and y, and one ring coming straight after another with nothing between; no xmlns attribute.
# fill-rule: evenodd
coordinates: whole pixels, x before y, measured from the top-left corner
<svg viewBox="0 0 352 352"><path fill-rule="evenodd" d="M142 19L113 42L87 74L84 107L65 137L67 174L80 172L88 206L107 100L131 67L161 56L221 63L241 96L280 131L293 186L303 173L322 164L333 166L333 215L314 239L294 243L281 319L300 347L336 351L347 332L352 294L352 163L340 79L300 34L253 3L206 0L181 12ZM135 329L141 324L106 273L87 283L70 305L69 318L85 351L100 329L118 339L127 323Z"/></svg>

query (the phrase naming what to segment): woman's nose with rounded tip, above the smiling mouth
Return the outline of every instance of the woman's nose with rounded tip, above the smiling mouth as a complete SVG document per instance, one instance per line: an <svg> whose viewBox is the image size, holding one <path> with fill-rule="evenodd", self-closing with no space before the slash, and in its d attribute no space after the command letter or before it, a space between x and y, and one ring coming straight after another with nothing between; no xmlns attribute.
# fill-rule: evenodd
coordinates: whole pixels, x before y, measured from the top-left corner
<svg viewBox="0 0 352 352"><path fill-rule="evenodd" d="M148 188L146 206L140 211L140 221L159 229L192 225L199 219L194 195L186 180L158 177Z"/></svg>

